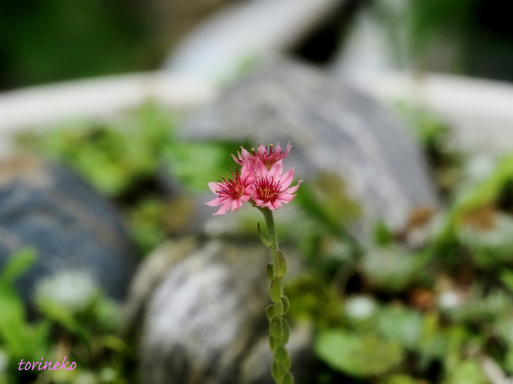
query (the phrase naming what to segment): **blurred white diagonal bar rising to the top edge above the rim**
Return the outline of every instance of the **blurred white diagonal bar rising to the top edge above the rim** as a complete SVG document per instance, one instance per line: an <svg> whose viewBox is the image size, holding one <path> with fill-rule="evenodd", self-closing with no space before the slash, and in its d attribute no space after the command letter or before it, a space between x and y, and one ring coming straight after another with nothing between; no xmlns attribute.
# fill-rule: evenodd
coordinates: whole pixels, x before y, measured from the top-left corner
<svg viewBox="0 0 513 384"><path fill-rule="evenodd" d="M179 45L165 68L207 80L236 75L244 61L299 42L344 0L253 0L210 18Z"/></svg>

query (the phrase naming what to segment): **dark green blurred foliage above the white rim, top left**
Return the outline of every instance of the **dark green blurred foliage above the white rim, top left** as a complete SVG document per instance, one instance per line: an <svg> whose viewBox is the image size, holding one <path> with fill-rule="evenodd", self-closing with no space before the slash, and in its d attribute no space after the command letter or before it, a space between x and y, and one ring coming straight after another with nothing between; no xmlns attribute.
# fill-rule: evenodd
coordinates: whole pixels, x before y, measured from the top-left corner
<svg viewBox="0 0 513 384"><path fill-rule="evenodd" d="M154 68L145 16L134 1L0 2L0 88Z"/></svg>

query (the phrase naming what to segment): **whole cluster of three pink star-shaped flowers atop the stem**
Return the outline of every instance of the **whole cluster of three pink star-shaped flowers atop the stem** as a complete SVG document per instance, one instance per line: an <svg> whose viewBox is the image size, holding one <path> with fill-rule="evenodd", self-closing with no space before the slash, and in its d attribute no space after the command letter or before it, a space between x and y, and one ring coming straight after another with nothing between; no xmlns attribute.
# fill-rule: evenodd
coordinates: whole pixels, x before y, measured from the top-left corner
<svg viewBox="0 0 513 384"><path fill-rule="evenodd" d="M233 160L241 165L241 170L235 168L231 171L231 179L208 183L210 190L218 195L214 200L206 203L210 206L221 205L215 215L223 215L230 207L232 211L238 210L242 203L250 201L253 205L259 207L268 207L277 209L283 203L291 201L298 190L299 183L289 187L294 178L294 168L283 173L283 159L290 151L290 145L287 144L285 152L282 152L280 145L276 148L272 144L268 147L260 144L257 152L251 153L242 148L237 153L238 157L233 156Z"/></svg>

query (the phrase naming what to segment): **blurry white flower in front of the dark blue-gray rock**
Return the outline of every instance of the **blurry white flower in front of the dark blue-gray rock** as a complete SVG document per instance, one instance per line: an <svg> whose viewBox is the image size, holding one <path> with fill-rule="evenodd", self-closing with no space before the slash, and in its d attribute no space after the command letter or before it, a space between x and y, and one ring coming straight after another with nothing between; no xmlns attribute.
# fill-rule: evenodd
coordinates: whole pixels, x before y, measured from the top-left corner
<svg viewBox="0 0 513 384"><path fill-rule="evenodd" d="M92 300L97 285L81 271L63 271L43 279L36 288L37 301L49 300L71 310L80 310Z"/></svg>

